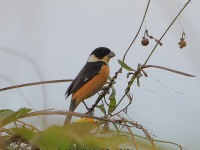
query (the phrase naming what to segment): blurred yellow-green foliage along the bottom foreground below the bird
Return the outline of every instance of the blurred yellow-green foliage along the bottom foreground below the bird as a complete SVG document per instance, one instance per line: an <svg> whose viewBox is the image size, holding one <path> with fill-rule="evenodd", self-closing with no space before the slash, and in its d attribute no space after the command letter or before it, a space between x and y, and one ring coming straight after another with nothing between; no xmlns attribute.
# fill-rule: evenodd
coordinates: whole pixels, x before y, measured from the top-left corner
<svg viewBox="0 0 200 150"><path fill-rule="evenodd" d="M43 131L38 130L33 125L19 121L20 118L44 115L44 112L46 113L47 111L30 112L30 109L27 108L22 108L16 112L1 110L1 120L9 120L8 122L14 123L15 127L8 127L7 123L1 126L0 147L5 149L32 148L48 150L130 149L136 146L133 141L141 148L149 149L152 147L146 141L148 140L147 138L127 132L124 127L126 125L126 128L129 129L129 126L127 126L128 121L125 120L111 122L110 120L98 121L96 120L97 118L89 118L88 122L87 119L83 119L65 127L53 125ZM15 117L10 117L10 114ZM137 128L142 129L142 126L137 125ZM137 140L133 137L136 137Z"/></svg>

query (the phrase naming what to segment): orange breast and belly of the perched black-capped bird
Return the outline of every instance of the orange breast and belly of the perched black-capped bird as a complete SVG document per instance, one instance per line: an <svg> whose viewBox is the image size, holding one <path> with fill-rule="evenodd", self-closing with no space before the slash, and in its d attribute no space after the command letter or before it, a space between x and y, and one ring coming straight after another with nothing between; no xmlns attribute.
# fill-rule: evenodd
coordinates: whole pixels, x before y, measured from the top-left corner
<svg viewBox="0 0 200 150"><path fill-rule="evenodd" d="M72 100L76 100L76 106L83 100L92 96L92 94L101 89L109 78L110 70L108 65L103 65L99 74L88 81L77 92L72 94Z"/></svg>

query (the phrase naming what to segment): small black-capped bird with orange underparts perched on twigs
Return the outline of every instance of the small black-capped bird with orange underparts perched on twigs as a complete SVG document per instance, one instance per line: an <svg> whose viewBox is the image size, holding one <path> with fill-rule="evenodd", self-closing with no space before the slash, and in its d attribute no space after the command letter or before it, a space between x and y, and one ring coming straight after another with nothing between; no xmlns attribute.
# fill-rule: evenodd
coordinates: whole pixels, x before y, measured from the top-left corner
<svg viewBox="0 0 200 150"><path fill-rule="evenodd" d="M72 95L69 111L74 112L80 102L105 85L110 75L109 60L114 56L115 53L106 47L98 47L92 51L86 64L65 92L65 99ZM67 115L64 126L70 124L71 118L72 115Z"/></svg>

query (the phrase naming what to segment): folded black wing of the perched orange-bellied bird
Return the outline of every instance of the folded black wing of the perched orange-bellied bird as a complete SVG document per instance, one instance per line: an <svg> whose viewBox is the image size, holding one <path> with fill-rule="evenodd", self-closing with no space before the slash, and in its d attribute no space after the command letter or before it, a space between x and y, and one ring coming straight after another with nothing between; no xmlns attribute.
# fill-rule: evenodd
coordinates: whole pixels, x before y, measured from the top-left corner
<svg viewBox="0 0 200 150"><path fill-rule="evenodd" d="M104 62L87 62L82 70L79 72L77 77L73 80L73 82L68 87L65 95L66 98L80 89L84 84L90 81L94 76L96 76L100 70Z"/></svg>

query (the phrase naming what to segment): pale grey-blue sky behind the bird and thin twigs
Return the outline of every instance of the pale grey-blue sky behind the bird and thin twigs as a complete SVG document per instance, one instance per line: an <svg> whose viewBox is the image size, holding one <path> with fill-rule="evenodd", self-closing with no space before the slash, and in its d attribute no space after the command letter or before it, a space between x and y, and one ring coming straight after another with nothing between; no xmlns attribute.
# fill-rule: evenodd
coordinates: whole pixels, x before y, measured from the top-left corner
<svg viewBox="0 0 200 150"><path fill-rule="evenodd" d="M186 0L152 0L146 18L149 34L160 38ZM147 0L0 0L0 87L43 80L73 79L99 46L110 48L111 76L120 67L125 50L138 31ZM146 69L134 96L129 116L149 129L159 140L178 143L185 149L200 149L200 2L193 0L163 38L148 64L195 75L189 78L159 69ZM182 28L187 46L178 42ZM140 44L145 26L130 49L126 63L133 68L144 63L154 45ZM127 71L116 80L117 98L127 86ZM69 83L49 84L1 92L0 109L67 110ZM92 100L93 99L93 100ZM87 104L94 102L95 97ZM128 102L124 100L124 104ZM84 112L81 106L76 110ZM98 114L97 114L98 115ZM64 117L58 122L63 124Z"/></svg>

